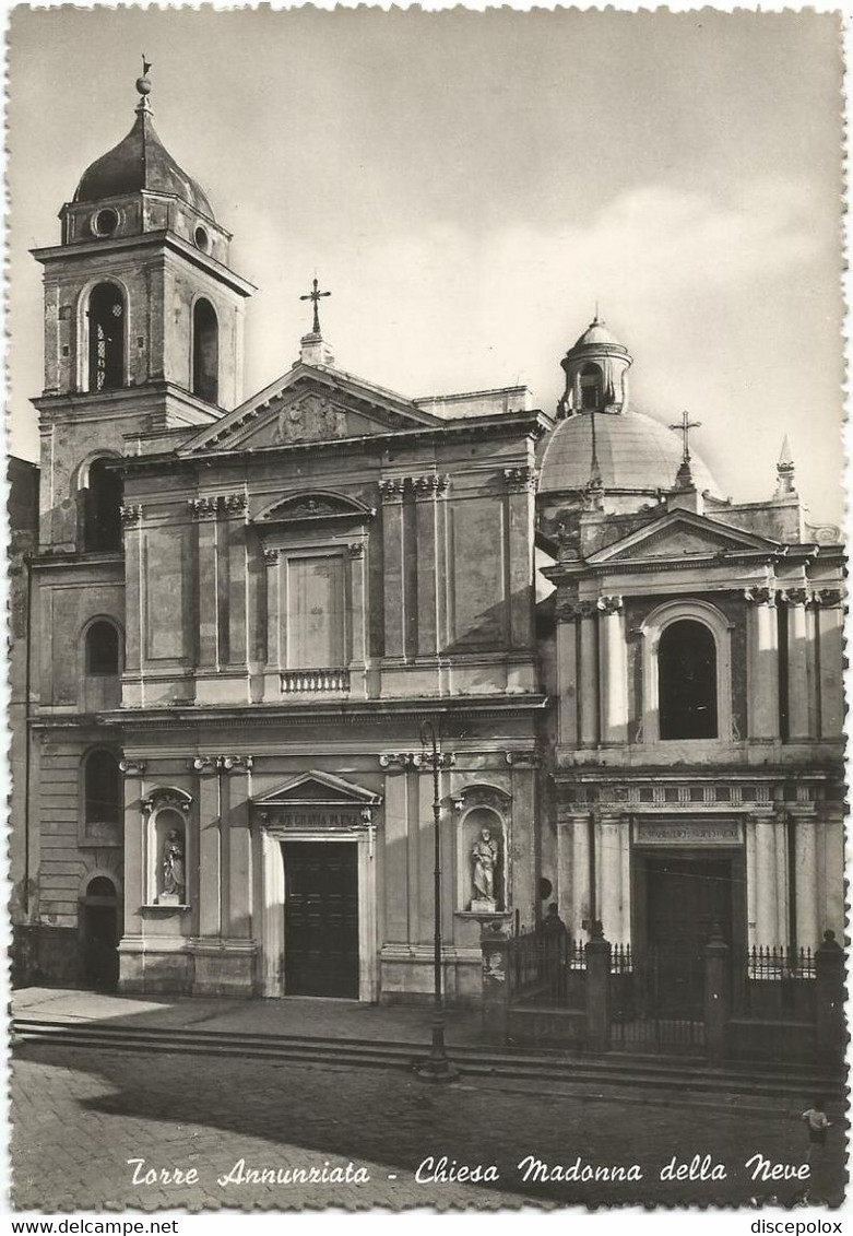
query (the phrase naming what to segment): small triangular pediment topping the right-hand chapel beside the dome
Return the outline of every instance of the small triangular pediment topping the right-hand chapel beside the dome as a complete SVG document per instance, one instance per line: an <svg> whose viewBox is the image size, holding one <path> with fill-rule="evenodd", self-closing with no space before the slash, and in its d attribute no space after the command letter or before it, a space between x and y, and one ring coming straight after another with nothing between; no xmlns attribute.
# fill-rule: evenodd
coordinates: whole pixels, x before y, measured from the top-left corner
<svg viewBox="0 0 853 1236"><path fill-rule="evenodd" d="M631 535L593 554L588 561L649 562L655 559L709 557L738 552L774 552L779 541L731 528L690 510L673 510Z"/></svg>

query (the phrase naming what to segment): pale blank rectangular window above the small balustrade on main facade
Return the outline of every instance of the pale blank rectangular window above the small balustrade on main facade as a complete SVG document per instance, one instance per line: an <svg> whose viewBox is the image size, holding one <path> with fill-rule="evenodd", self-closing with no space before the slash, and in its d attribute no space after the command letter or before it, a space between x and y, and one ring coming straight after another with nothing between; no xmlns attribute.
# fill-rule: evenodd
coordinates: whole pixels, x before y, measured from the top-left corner
<svg viewBox="0 0 853 1236"><path fill-rule="evenodd" d="M289 559L286 632L289 669L347 664L342 557Z"/></svg>

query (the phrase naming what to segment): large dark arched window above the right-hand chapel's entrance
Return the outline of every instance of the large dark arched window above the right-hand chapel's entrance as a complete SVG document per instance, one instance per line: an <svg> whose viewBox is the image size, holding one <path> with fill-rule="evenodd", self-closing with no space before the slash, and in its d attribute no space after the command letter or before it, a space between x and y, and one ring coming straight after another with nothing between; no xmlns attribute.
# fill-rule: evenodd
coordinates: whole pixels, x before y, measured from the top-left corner
<svg viewBox="0 0 853 1236"><path fill-rule="evenodd" d="M660 738L717 737L717 649L705 623L670 623L658 646Z"/></svg>

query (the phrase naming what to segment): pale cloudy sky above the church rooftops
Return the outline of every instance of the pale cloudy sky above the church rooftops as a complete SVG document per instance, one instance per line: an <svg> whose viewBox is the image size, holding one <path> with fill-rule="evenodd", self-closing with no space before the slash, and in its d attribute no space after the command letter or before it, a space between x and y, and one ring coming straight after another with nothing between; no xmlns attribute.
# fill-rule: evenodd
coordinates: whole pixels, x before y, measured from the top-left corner
<svg viewBox="0 0 853 1236"><path fill-rule="evenodd" d="M526 382L554 410L594 315L632 402L736 501L783 438L839 523L841 30L812 11L14 10L10 446L37 457L41 268L62 204L154 124L258 286L244 393L284 373L331 290L336 361L410 397Z"/></svg>

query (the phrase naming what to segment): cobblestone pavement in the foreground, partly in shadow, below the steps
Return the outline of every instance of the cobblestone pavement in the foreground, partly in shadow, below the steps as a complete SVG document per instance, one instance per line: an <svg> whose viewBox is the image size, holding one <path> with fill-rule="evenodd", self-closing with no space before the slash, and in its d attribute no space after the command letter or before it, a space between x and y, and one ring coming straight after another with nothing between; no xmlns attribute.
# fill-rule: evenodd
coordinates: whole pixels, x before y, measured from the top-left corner
<svg viewBox="0 0 853 1236"><path fill-rule="evenodd" d="M542 1082L462 1079L431 1086L402 1070L236 1060L214 1056L80 1049L27 1043L15 1052L12 1206L165 1210L254 1206L518 1206L569 1203L790 1204L796 1182L753 1182L753 1154L799 1164L805 1131L797 1106L718 1095L663 1094ZM832 1116L832 1114L831 1114ZM812 1196L843 1193L843 1117L834 1116ZM418 1183L418 1164L494 1164L497 1180ZM570 1168L628 1168L641 1180L530 1178L526 1157ZM706 1179L669 1182L660 1169L699 1159ZM193 1183L135 1184L141 1173L195 1169ZM363 1169L363 1183L236 1183L247 1169ZM726 1179L710 1179L723 1164ZM421 1169L421 1174L428 1174ZM220 1184L231 1175L232 1183Z"/></svg>

